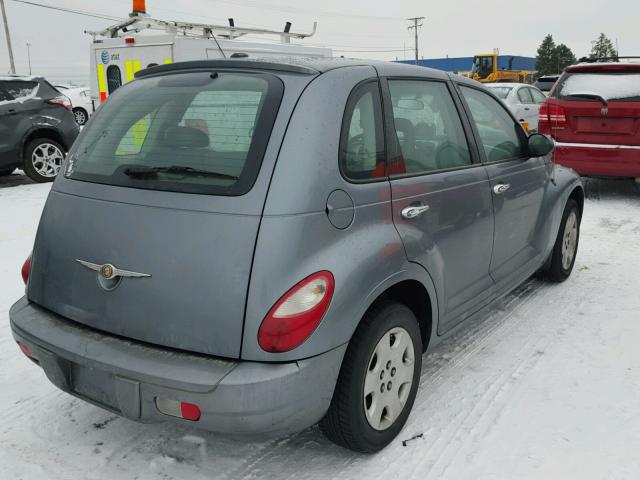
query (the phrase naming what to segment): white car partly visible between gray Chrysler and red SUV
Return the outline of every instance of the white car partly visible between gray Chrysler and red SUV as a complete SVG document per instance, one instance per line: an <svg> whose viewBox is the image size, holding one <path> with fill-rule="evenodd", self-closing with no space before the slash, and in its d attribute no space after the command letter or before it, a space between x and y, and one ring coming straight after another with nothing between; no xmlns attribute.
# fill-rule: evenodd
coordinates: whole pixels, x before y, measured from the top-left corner
<svg viewBox="0 0 640 480"><path fill-rule="evenodd" d="M538 88L525 83L486 83L485 87L509 107L528 133L538 131L540 105L547 98Z"/></svg>

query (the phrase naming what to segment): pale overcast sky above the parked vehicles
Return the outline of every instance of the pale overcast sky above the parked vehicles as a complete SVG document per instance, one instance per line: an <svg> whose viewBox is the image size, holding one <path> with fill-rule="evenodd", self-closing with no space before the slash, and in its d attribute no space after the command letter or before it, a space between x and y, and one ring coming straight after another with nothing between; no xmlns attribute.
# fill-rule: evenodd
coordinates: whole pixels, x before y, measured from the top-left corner
<svg viewBox="0 0 640 480"><path fill-rule="evenodd" d="M131 0L32 0L125 18ZM89 43L84 30L114 22L5 0L18 73L28 73L26 43L31 43L34 74L53 82L87 82ZM577 57L605 32L617 39L621 55L640 55L640 0L147 0L154 18L282 28L318 33L304 41L331 47L336 55L394 60L413 57L407 17L424 16L420 56L472 56L500 48L509 55L535 56L547 33L566 43ZM0 31L0 74L9 71L4 31Z"/></svg>

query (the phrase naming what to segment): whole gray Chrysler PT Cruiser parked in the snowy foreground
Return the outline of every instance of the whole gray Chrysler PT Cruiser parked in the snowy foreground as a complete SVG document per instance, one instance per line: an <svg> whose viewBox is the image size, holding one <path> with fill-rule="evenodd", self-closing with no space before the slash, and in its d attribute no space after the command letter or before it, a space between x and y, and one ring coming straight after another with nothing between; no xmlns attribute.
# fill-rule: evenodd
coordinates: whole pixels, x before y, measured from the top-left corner
<svg viewBox="0 0 640 480"><path fill-rule="evenodd" d="M375 452L422 356L535 274L566 279L579 177L480 84L351 60L152 67L47 200L22 351L142 422Z"/></svg>

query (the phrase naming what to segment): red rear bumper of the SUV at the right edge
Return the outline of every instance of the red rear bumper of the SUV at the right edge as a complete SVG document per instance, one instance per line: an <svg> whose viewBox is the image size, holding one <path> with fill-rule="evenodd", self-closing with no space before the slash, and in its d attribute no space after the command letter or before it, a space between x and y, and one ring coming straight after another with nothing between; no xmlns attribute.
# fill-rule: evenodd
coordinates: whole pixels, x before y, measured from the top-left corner
<svg viewBox="0 0 640 480"><path fill-rule="evenodd" d="M640 146L556 143L553 161L581 175L640 177Z"/></svg>

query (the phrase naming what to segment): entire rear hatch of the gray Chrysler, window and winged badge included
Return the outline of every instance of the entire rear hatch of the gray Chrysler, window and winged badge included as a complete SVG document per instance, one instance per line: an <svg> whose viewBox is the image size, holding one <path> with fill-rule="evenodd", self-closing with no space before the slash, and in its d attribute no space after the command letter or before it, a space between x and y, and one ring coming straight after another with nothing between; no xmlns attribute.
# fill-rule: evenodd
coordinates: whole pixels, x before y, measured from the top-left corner
<svg viewBox="0 0 640 480"><path fill-rule="evenodd" d="M311 78L220 67L119 89L47 200L29 299L115 335L238 358L269 177Z"/></svg>

